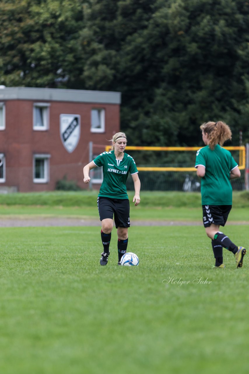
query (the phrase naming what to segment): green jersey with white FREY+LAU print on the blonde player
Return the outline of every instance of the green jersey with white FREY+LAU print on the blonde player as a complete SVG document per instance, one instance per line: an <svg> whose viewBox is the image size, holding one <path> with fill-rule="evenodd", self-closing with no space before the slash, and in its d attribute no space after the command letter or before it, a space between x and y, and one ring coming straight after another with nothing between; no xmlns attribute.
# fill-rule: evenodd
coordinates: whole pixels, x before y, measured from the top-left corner
<svg viewBox="0 0 249 374"><path fill-rule="evenodd" d="M103 166L103 183L99 190L99 197L128 199L126 190L128 173L138 173L133 158L124 153L123 159L117 160L113 150L101 153L93 162L97 166Z"/></svg>

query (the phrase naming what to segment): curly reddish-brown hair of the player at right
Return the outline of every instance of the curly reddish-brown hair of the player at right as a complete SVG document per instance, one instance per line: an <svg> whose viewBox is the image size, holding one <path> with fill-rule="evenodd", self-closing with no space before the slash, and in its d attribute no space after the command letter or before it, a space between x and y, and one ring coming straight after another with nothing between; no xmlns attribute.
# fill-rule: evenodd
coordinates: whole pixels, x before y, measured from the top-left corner
<svg viewBox="0 0 249 374"><path fill-rule="evenodd" d="M203 130L205 134L208 134L209 147L212 150L216 144L222 146L226 140L231 140L232 138L230 127L222 121L205 122L200 126L200 129Z"/></svg>

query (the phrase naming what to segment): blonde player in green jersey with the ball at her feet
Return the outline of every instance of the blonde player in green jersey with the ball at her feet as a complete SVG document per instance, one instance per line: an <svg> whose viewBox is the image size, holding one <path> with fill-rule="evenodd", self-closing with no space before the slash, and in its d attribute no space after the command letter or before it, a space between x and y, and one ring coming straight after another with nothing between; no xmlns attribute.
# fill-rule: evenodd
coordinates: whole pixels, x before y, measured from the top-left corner
<svg viewBox="0 0 249 374"><path fill-rule="evenodd" d="M128 245L128 227L130 227L130 203L126 190L128 173L134 183L135 195L133 202L140 203L140 180L136 163L131 156L124 153L127 138L124 132L117 132L112 138L112 149L103 152L93 161L84 166L84 182L89 183L89 171L97 166L103 167L103 183L100 187L97 205L102 224L101 240L103 252L100 265L108 263L109 245L113 229L113 215L118 234L118 265Z"/></svg>

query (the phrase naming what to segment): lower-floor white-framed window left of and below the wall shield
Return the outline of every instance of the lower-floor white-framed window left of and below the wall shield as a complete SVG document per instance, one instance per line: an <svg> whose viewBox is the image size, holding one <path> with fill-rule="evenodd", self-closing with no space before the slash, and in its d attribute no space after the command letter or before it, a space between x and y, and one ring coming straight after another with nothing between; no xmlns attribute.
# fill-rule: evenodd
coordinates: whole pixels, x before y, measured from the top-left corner
<svg viewBox="0 0 249 374"><path fill-rule="evenodd" d="M50 154L34 154L33 156L33 182L49 182Z"/></svg>

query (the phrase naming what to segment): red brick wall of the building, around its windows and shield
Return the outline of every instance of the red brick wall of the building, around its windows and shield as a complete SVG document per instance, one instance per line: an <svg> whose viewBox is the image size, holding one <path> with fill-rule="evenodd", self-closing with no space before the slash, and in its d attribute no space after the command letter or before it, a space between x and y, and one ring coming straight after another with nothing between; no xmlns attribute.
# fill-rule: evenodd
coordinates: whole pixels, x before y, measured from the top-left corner
<svg viewBox="0 0 249 374"><path fill-rule="evenodd" d="M33 105L46 102L49 107L49 129L33 129ZM70 101L4 100L6 128L0 131L0 153L6 159L6 182L0 186L16 186L18 191L54 190L57 180L67 175L82 188L83 167L89 162L88 144L107 145L107 140L120 131L119 104L83 103ZM105 109L105 132L91 132L91 109ZM81 120L80 139L77 147L69 153L60 138L60 114L78 114ZM97 147L97 153L104 148ZM33 182L33 155L49 154L50 180L48 183Z"/></svg>

